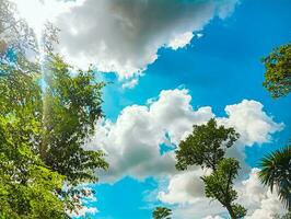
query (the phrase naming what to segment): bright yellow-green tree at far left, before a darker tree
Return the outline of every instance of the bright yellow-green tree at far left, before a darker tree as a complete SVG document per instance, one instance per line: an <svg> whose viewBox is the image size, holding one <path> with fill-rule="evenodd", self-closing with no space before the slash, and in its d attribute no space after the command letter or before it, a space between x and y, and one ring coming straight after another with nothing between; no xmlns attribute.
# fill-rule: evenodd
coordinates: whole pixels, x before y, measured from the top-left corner
<svg viewBox="0 0 291 219"><path fill-rule="evenodd" d="M67 218L57 196L65 176L35 153L42 95L33 73L0 62L0 217Z"/></svg>

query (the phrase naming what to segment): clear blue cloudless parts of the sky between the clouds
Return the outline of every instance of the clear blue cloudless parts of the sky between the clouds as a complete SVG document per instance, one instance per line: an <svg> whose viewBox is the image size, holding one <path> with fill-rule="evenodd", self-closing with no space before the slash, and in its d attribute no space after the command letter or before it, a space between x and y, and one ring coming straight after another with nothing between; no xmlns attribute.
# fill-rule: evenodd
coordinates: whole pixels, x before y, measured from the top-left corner
<svg viewBox="0 0 291 219"><path fill-rule="evenodd" d="M244 99L255 100L275 122L286 127L275 134L272 142L246 148L246 162L256 166L259 158L288 142L291 129L291 96L272 100L261 87L264 66L260 58L273 47L290 42L291 2L288 0L242 0L226 20L213 19L193 38L190 45L178 50L159 49L159 58L140 77L133 89L121 89L114 73L105 89L103 110L107 118L116 120L129 105L144 105L162 90L186 88L193 96L194 108L211 106L216 115L225 116L225 105ZM125 176L114 184L92 185L96 189L97 207L93 218L147 219L151 206L147 195L158 183L149 176L143 181Z"/></svg>

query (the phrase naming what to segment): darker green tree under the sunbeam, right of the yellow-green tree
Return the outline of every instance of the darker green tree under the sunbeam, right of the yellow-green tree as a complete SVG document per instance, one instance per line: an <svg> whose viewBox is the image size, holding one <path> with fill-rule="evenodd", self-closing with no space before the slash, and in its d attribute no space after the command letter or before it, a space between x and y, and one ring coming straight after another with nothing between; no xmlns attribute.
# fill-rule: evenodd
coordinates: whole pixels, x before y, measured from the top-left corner
<svg viewBox="0 0 291 219"><path fill-rule="evenodd" d="M40 154L53 170L70 183L95 182L96 168L107 168L102 151L82 148L102 116L101 89L92 70L71 76L70 67L54 56L46 77L44 138Z"/></svg>

